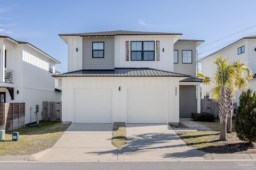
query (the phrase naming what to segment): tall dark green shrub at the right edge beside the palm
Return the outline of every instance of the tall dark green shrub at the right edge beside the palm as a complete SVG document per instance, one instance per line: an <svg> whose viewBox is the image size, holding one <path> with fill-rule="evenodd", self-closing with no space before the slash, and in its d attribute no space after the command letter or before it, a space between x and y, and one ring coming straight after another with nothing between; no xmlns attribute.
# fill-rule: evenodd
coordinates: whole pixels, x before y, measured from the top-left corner
<svg viewBox="0 0 256 170"><path fill-rule="evenodd" d="M240 140L256 142L256 93L249 89L239 97L235 129Z"/></svg>

